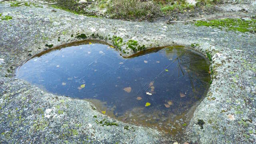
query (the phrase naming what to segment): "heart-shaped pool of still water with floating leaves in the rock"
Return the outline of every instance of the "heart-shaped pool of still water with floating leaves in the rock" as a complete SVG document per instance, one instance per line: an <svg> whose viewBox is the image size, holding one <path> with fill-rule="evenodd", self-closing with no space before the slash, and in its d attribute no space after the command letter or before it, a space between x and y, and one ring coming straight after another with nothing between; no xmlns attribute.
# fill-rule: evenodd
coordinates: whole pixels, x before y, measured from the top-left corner
<svg viewBox="0 0 256 144"><path fill-rule="evenodd" d="M16 75L53 94L89 100L118 120L170 134L186 128L210 81L208 60L182 46L123 58L97 41L42 52Z"/></svg>

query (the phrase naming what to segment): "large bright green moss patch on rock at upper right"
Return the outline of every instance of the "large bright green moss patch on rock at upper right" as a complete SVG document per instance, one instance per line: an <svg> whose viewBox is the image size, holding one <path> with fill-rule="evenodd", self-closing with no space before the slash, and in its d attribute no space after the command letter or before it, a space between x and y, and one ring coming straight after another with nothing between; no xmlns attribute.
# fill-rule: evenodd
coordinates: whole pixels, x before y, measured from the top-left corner
<svg viewBox="0 0 256 144"><path fill-rule="evenodd" d="M195 23L196 26L211 26L214 28L232 30L238 32L256 32L256 19L241 20L239 18L226 18L222 20L199 20Z"/></svg>

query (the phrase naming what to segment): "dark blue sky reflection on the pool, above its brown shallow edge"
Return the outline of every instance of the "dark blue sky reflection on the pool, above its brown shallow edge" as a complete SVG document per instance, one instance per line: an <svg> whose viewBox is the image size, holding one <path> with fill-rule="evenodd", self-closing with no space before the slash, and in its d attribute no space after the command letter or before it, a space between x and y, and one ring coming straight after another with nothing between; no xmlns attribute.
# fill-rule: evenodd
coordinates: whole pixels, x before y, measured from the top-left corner
<svg viewBox="0 0 256 144"><path fill-rule="evenodd" d="M54 94L107 102L120 114L146 102L150 109L164 109L167 101L173 102L169 110L174 112L202 97L210 80L208 69L204 58L182 48L125 59L107 45L86 44L32 58L17 77ZM124 91L129 87L130 92ZM181 98L181 93L186 96Z"/></svg>

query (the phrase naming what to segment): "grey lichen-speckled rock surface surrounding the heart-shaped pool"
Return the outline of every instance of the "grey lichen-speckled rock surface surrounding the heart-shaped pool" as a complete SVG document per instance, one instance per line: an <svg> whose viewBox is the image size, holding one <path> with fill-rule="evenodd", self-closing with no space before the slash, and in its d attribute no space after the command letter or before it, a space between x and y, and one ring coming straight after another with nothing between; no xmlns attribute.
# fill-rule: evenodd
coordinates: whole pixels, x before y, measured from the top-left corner
<svg viewBox="0 0 256 144"><path fill-rule="evenodd" d="M85 100L55 96L15 78L15 70L49 48L99 39L120 48L128 40L152 48L184 45L212 56L213 81L179 143L254 143L256 141L256 35L194 24L128 22L80 16L44 4L10 7L0 21L0 143L173 143L175 137L152 128L115 121ZM118 47L118 41L123 40ZM46 46L47 44L47 46ZM199 44L191 46L191 44ZM124 53L124 51L126 53ZM127 53L129 52L129 54ZM100 123L118 126L102 126ZM200 125L202 124L202 125ZM124 127L128 126L128 130Z"/></svg>

